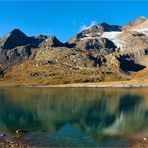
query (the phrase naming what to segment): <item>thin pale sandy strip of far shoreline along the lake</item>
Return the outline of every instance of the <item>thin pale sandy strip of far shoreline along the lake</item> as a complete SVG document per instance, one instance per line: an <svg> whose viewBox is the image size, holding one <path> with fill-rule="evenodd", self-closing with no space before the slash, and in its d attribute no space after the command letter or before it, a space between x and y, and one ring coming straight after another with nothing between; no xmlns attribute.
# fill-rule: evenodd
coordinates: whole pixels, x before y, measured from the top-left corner
<svg viewBox="0 0 148 148"><path fill-rule="evenodd" d="M92 83L71 83L71 84L0 84L0 87L42 87L42 88L148 88L148 81L112 81L112 82L92 82Z"/></svg>

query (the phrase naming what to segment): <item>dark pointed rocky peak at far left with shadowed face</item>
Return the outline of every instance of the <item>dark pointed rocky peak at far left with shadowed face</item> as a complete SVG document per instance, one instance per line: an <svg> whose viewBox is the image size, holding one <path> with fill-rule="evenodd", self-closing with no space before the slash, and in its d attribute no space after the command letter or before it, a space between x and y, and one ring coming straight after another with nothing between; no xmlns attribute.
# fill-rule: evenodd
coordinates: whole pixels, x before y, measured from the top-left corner
<svg viewBox="0 0 148 148"><path fill-rule="evenodd" d="M6 68L21 63L31 56L32 49L46 39L44 35L28 37L19 29L14 29L0 40L0 64Z"/></svg>

